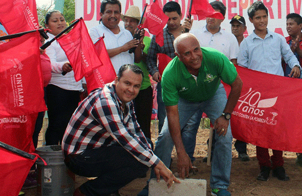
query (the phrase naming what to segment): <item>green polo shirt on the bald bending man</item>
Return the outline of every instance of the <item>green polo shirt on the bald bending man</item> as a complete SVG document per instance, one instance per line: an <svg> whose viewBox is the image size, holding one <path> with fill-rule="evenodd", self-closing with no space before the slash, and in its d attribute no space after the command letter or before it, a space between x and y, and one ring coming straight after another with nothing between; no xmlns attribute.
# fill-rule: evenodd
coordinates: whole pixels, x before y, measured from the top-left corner
<svg viewBox="0 0 302 196"><path fill-rule="evenodd" d="M177 105L179 98L190 102L209 100L214 96L220 79L232 84L237 71L234 64L216 49L201 47L202 61L197 80L176 56L167 65L162 76L162 94L166 106Z"/></svg>

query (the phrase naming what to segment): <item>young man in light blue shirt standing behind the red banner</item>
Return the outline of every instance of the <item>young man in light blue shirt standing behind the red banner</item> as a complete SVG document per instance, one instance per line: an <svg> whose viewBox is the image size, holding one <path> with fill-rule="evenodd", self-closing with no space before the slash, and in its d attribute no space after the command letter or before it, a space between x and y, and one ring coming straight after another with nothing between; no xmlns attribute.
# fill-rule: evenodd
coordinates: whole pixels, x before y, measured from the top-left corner
<svg viewBox="0 0 302 196"><path fill-rule="evenodd" d="M298 78L300 76L299 62L286 43L285 38L266 28L268 10L264 4L260 1L252 4L248 9L248 15L255 30L241 42L237 59L238 64L251 70L284 76L281 66L281 57L283 57L292 69L290 77ZM282 181L289 180L283 168L282 153L282 151L273 150L273 155L270 157L268 149L256 147L256 155L261 170L257 177L258 180L267 181L271 169L273 170L272 176Z"/></svg>

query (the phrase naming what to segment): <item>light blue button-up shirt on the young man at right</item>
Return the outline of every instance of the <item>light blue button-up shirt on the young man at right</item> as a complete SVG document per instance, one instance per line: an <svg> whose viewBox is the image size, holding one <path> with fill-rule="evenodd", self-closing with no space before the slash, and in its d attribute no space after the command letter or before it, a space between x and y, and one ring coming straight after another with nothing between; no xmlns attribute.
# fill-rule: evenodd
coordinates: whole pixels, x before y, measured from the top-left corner
<svg viewBox="0 0 302 196"><path fill-rule="evenodd" d="M294 66L300 68L297 58L283 36L267 30L265 38L262 39L253 31L241 42L237 62L251 70L284 76L281 57L291 69Z"/></svg>

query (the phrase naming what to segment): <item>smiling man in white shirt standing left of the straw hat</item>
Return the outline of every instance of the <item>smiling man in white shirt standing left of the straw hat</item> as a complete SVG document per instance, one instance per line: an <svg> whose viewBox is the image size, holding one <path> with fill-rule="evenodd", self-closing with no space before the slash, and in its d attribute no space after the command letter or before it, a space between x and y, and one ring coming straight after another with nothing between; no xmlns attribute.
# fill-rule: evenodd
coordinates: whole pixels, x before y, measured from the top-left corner
<svg viewBox="0 0 302 196"><path fill-rule="evenodd" d="M100 16L100 25L91 28L89 34L94 43L105 36L104 42L115 72L117 73L123 64L140 62L142 52L139 40L133 39L132 34L119 25L121 3L118 0L104 0ZM128 52L132 47L136 47L134 54Z"/></svg>

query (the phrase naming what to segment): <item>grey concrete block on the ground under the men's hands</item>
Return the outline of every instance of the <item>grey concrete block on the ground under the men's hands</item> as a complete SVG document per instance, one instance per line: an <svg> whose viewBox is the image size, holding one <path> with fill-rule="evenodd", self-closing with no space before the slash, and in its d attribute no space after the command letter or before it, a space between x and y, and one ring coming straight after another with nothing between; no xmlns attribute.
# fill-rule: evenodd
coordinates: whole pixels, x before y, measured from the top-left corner
<svg viewBox="0 0 302 196"><path fill-rule="evenodd" d="M173 183L170 188L164 179L157 182L155 178L149 182L149 196L206 196L206 180L180 179L181 183Z"/></svg>

